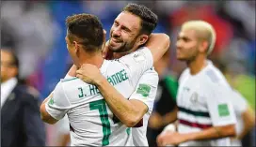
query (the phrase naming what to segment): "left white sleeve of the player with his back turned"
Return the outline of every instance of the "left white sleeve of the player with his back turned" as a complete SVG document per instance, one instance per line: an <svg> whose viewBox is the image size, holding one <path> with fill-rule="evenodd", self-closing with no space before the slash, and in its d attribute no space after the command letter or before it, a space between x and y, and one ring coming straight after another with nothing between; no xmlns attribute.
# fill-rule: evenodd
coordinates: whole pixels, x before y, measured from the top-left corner
<svg viewBox="0 0 256 147"><path fill-rule="evenodd" d="M45 105L47 112L56 120L62 119L71 106L62 86L61 81L59 81L53 92L53 96Z"/></svg>

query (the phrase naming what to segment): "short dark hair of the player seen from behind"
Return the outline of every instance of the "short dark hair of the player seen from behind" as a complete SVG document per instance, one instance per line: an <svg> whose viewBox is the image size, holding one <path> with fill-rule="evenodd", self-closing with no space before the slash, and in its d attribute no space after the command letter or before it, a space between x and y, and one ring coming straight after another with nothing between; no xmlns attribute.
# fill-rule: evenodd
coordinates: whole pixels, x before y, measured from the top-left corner
<svg viewBox="0 0 256 147"><path fill-rule="evenodd" d="M98 51L104 43L104 29L100 20L91 14L75 14L66 20L69 39L84 45L87 51Z"/></svg>

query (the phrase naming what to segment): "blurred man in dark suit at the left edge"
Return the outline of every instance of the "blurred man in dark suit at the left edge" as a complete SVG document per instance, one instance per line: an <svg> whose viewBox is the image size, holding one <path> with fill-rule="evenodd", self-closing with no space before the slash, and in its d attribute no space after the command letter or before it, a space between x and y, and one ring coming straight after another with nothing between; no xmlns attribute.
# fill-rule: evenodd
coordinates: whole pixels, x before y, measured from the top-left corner
<svg viewBox="0 0 256 147"><path fill-rule="evenodd" d="M1 145L44 146L39 94L19 83L18 77L18 58L11 51L1 49Z"/></svg>

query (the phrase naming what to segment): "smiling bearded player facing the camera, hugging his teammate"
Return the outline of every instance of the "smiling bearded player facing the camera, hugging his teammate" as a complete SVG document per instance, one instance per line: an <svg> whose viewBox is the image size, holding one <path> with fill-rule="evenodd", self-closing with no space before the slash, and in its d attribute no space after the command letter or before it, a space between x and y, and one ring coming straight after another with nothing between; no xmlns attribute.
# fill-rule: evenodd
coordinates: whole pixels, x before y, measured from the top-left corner
<svg viewBox="0 0 256 147"><path fill-rule="evenodd" d="M154 36L151 36L151 34L156 24L157 16L148 7L136 4L129 4L124 7L111 27L108 48L105 48L109 50L107 57L110 57L109 54L111 54L112 57L117 59L132 51L136 51L140 46L141 40L146 42L149 37ZM98 81L98 79L93 79L96 73L88 75L87 71L92 72L89 66L88 68L83 66L78 70L77 76L82 80L85 78L86 82ZM101 76L98 77L101 78ZM88 78L89 81L87 81ZM152 113L153 101L156 96L157 72L153 68L144 72L129 99L127 99L127 96L120 96L118 94L114 97L114 86L109 84L105 86L104 81L96 83L96 85L103 94L110 110L114 112L124 125L134 126L132 128L132 135L136 146L149 146L146 133L148 121ZM125 87L123 89L125 90Z"/></svg>

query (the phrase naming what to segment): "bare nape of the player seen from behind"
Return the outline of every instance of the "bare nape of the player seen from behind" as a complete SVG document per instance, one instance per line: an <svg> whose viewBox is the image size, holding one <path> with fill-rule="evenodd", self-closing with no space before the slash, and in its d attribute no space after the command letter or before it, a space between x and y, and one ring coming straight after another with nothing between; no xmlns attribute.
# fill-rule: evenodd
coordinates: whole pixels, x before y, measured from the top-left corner
<svg viewBox="0 0 256 147"><path fill-rule="evenodd" d="M95 52L93 54L85 54L83 58L80 58L79 66L83 66L83 64L90 64L101 68L104 63L104 58L102 53Z"/></svg>

